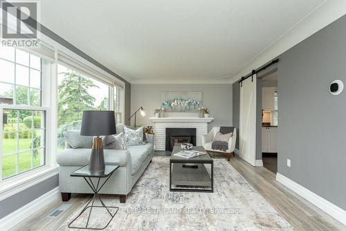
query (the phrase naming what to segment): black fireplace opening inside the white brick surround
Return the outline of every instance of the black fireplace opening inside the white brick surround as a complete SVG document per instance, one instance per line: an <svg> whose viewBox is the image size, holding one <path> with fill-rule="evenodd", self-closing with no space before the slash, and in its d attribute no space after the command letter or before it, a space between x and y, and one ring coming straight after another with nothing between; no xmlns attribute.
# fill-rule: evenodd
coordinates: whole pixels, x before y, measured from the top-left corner
<svg viewBox="0 0 346 231"><path fill-rule="evenodd" d="M196 128L166 128L166 151L172 151L174 145L183 143L196 146Z"/></svg>

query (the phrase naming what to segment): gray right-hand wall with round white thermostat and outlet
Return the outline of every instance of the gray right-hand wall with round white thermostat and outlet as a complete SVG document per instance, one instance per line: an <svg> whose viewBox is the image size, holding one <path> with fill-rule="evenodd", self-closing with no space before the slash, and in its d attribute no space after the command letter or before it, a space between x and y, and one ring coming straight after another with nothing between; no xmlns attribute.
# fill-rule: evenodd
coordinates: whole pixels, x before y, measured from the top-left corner
<svg viewBox="0 0 346 231"><path fill-rule="evenodd" d="M346 16L289 51L278 63L278 172L346 209ZM286 166L287 158L291 167Z"/></svg>

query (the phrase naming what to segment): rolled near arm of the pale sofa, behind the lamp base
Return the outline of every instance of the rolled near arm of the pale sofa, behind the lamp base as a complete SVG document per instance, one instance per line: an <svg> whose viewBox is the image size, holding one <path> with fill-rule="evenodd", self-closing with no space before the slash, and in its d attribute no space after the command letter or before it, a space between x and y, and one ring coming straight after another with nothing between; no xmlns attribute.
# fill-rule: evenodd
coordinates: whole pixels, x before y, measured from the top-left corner
<svg viewBox="0 0 346 231"><path fill-rule="evenodd" d="M104 162L119 166L131 166L131 155L127 150L104 149ZM67 148L57 154L57 164L60 166L84 166L89 164L90 148Z"/></svg>

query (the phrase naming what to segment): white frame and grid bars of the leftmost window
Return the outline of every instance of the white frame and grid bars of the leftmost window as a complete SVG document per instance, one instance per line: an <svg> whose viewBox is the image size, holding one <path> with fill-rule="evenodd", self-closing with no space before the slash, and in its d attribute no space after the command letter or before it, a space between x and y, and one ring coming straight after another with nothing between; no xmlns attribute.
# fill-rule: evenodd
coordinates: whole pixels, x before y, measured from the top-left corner
<svg viewBox="0 0 346 231"><path fill-rule="evenodd" d="M14 48L18 49L18 48ZM40 105L30 105L30 95L28 96L28 105L17 105L17 104L0 104L0 135L1 139L3 138L3 110L33 110L33 111L42 111L44 112L44 121L45 121L45 128L44 128L44 135L45 135L45 144L44 144L44 158L45 163L42 166L37 166L33 169L30 169L28 171L23 171L21 173L16 173L14 176L10 176L8 178L3 179L2 178L2 164L3 164L3 142L1 140L0 142L0 200L1 198L7 198L8 196L12 196L15 194L15 191L21 191L26 189L26 187L30 187L30 182L37 183L44 179L46 179L47 173L49 173L49 176L54 176L54 174L57 174L57 164L56 160L53 160L56 155L51 155L51 133L53 132L52 126L51 126L51 119L52 119L52 113L51 113L51 87L52 87L52 80L51 78L54 78L54 71L53 67L55 65L55 60L52 60L51 58L47 58L45 55L39 55L37 52L31 52L28 49L18 49L21 51L24 51L28 53L29 55L29 66L21 65L19 63L12 60L7 60L6 58L1 58L2 60L6 60L8 62L11 62L15 65L21 65L24 67L28 67L29 69L29 86L28 88L37 89L35 87L30 87L30 69L35 69L30 67L30 55L35 55L38 58L40 58L40 65L41 70L40 71ZM17 51L15 51L15 54L17 54ZM16 78L16 76L15 76ZM14 83L7 83L1 81L1 83L6 83L14 86L14 89L16 89L17 83L16 81ZM26 86L24 86L26 87ZM29 91L30 92L30 91ZM30 94L30 93L29 93ZM14 96L16 93L14 92ZM15 96L17 97L17 96ZM17 103L14 101L13 103ZM18 139L18 138L17 138ZM14 189L14 192L8 191L9 189Z"/></svg>

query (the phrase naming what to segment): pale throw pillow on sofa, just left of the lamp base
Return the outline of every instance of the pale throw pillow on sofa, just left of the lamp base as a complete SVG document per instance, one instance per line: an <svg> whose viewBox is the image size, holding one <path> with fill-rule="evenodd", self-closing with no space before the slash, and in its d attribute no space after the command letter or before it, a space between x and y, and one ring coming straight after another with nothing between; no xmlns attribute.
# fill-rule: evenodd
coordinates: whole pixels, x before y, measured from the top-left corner
<svg viewBox="0 0 346 231"><path fill-rule="evenodd" d="M93 137L80 135L80 130L66 130L63 134L71 148L91 148L93 146Z"/></svg>

